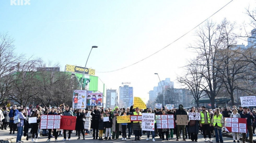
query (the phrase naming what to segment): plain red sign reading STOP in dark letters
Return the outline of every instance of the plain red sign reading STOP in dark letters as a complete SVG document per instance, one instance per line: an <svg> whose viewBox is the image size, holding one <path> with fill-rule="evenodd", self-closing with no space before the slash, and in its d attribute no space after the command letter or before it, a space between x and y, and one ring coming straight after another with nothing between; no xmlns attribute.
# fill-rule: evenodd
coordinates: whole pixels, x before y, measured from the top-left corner
<svg viewBox="0 0 256 143"><path fill-rule="evenodd" d="M60 129L75 130L76 116L61 116Z"/></svg>

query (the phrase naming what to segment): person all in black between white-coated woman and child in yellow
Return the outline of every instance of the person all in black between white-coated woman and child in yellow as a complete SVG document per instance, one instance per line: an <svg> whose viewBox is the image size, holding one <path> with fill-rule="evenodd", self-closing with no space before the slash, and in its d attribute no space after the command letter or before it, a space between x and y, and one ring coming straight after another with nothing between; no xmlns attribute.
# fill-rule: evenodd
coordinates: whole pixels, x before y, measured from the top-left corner
<svg viewBox="0 0 256 143"><path fill-rule="evenodd" d="M99 119L100 119L100 110L98 110L98 106L94 106L94 110L91 112L92 122L91 128L93 129L93 139L95 139L95 132L96 132L96 139L98 139L98 131L99 131Z"/></svg>

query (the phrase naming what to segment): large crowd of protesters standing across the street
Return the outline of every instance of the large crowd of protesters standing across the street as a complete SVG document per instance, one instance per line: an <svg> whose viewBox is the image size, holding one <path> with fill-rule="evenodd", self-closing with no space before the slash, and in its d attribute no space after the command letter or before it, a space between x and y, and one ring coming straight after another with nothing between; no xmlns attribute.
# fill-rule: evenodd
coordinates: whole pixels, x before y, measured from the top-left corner
<svg viewBox="0 0 256 143"><path fill-rule="evenodd" d="M9 106L9 107L8 107ZM188 125L177 125L177 115L188 115L188 112L199 112L201 120L188 120ZM46 107L37 105L23 107L22 105L17 107L13 105L5 105L1 107L0 110L0 121L1 129L7 130L7 127L10 128L9 134L15 134L17 131L16 142L22 142L21 136L27 136L28 140L28 130L31 128L30 133L32 133L32 142L38 141L39 131L40 131L40 119L41 115L65 115L65 116L76 116L76 126L75 131L72 130L62 130L62 129L42 129L41 136L48 136L46 141L51 141L51 138L55 138L55 141L58 141L57 138L63 135L63 141L71 140L71 133L75 132L80 140L80 134L82 133L83 139L85 140L85 135L89 135L92 132L92 139L99 140L118 140L119 135L122 135L121 140L127 140L133 138L131 135L134 134L133 138L135 141L141 140L141 136L147 133L146 141L150 139L150 131L142 131L142 122L133 121L130 123L117 123L117 116L129 116L129 115L142 115L142 113L150 113L155 115L174 115L175 128L170 129L158 129L156 127L152 134L152 141L155 141L155 137L159 136L162 140L174 139L176 135L176 141L181 139L187 141L197 142L198 134L201 133L205 142L213 142L215 138L216 142L223 142L222 132L224 128L224 118L245 118L247 120L247 133L236 133L232 132L233 142L240 142L239 137L242 136L242 142L244 143L246 139L249 138L249 142L252 142L253 135L255 135L256 127L256 109L253 108L250 110L247 107L233 106L232 108L216 108L216 109L207 109L205 106L198 108L191 107L190 109L184 109L182 105L179 107L173 108L171 110L162 108L147 108L139 109L137 107L127 107L119 108L116 106L114 109L103 108L94 106L91 109L72 109L69 105L64 103L58 107ZM20 122L14 123L14 117L19 115ZM36 117L36 123L28 123L29 117ZM108 117L107 122L103 122L103 117ZM188 118L189 119L189 118ZM127 132L128 131L128 132ZM68 136L66 135L68 132ZM103 138L104 136L104 138ZM208 139L207 139L208 137Z"/></svg>

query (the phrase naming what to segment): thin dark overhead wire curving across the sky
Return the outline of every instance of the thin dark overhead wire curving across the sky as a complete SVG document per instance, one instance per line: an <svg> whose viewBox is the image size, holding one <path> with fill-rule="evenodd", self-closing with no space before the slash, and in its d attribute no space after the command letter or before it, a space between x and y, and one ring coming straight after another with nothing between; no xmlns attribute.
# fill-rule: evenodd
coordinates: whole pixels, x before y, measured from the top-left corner
<svg viewBox="0 0 256 143"><path fill-rule="evenodd" d="M229 3L231 3L232 1L233 1L233 0L231 0ZM225 6L227 6L229 3L227 3L226 5L224 5L222 8L220 8L220 9L219 9L218 11L216 11L214 14L212 14L210 17L212 17L212 16L215 15L217 12L219 12L220 10L222 10L222 9L223 9ZM203 22L207 21L210 17L208 17L208 18L207 18L206 20L204 20ZM196 25L196 27L198 27L199 25L201 25L203 22L201 22L200 24ZM135 64L137 64L137 63L139 63L139 62L141 62L141 61L143 61L143 60L145 60L145 59L147 59L147 58L149 58L149 57L155 55L156 53L160 52L161 50L165 49L166 47L170 46L170 45L173 44L174 42L178 41L180 38L182 38L182 37L184 37L185 35L187 35L188 33L190 33L190 32L191 32L192 30L194 30L196 27L194 27L193 29L189 30L187 33L185 33L184 35L182 35L182 36L179 37L178 39L174 40L172 43L168 44L168 45L165 46L164 48L162 48L162 49L156 51L155 53L153 53L153 54L147 56L146 58L144 58L144 59L142 59L142 60L140 60L140 61L138 61L138 62L136 62L136 63L133 63L133 64L131 64L131 65L129 65L129 66L126 66L126 67L123 67L123 68L120 68L120 69L116 69L116 70L112 70L112 71L108 71L108 72L97 72L97 73L109 73L109 72L114 72L114 71L117 71L117 70L121 70L121 69L124 69L124 68L128 68L128 67L130 67L130 66L132 66L132 65L135 65Z"/></svg>

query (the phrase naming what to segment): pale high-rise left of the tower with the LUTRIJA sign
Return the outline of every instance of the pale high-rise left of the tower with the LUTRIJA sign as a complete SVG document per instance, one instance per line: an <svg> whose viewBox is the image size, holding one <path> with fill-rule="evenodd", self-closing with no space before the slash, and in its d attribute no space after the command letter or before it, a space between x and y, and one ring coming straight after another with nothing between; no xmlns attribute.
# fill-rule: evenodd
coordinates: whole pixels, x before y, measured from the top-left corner
<svg viewBox="0 0 256 143"><path fill-rule="evenodd" d="M117 90L107 89L106 108L114 109L117 104L116 100L117 100Z"/></svg>

